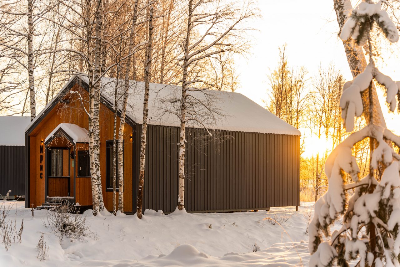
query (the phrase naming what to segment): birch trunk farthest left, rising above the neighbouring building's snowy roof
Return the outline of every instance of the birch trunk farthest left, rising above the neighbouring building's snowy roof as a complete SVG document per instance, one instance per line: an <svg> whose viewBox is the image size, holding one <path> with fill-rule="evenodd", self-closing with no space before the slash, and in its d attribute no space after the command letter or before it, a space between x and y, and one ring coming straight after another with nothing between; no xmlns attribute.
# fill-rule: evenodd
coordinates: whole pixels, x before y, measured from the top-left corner
<svg viewBox="0 0 400 267"><path fill-rule="evenodd" d="M33 65L33 1L28 0L28 82L30 97L30 120L36 117L36 97L34 84L34 65Z"/></svg>

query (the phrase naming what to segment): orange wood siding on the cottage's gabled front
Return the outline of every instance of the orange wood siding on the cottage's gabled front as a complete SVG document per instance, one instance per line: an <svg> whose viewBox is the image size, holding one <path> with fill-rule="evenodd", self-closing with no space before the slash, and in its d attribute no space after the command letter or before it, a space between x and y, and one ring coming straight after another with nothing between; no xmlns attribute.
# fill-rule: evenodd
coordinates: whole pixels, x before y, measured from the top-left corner
<svg viewBox="0 0 400 267"><path fill-rule="evenodd" d="M73 91L80 91L84 99L88 99L88 93L78 85L74 85ZM58 103L56 107L36 126L30 136L30 202L39 206L44 202L45 194L45 153L43 152L43 170L40 171L40 145L44 139L60 124L74 123L88 129L88 117L82 109L82 104L76 95L66 95L66 103ZM68 100L68 101L67 101ZM84 101L86 103L87 101ZM119 126L119 118L117 128ZM100 172L102 174L102 188L104 204L108 210L112 210L112 192L106 192L106 140L112 140L114 127L114 114L108 107L100 105ZM124 128L124 210L132 211L132 127L125 124ZM118 138L118 129L117 129ZM78 145L79 147L79 145ZM76 157L75 159L76 160ZM71 194L76 192L76 202L80 205L92 204L92 191L90 178L76 178L74 190L74 167L71 161ZM68 168L66 168L68 170ZM43 178L40 179L40 172ZM67 180L67 179L66 179ZM50 186L50 185L49 185ZM118 201L118 197L117 197Z"/></svg>

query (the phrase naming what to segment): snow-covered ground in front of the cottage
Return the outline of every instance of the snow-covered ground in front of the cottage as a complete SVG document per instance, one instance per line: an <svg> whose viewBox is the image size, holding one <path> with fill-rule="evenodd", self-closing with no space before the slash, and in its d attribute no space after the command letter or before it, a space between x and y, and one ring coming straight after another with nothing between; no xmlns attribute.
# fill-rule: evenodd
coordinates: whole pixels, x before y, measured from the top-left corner
<svg viewBox="0 0 400 267"><path fill-rule="evenodd" d="M32 218L23 202L8 203L14 205L9 218L17 219L18 229L23 218L24 230L21 244L12 243L8 252L0 243L3 266L307 266L310 257L305 231L312 202L302 202L297 212L294 207L170 215L148 210L142 220L87 212L93 234L75 243L61 242L44 227L46 210L36 210ZM272 225L263 220L267 217L288 220ZM42 262L35 248L41 233L49 251ZM260 251L253 252L255 243Z"/></svg>

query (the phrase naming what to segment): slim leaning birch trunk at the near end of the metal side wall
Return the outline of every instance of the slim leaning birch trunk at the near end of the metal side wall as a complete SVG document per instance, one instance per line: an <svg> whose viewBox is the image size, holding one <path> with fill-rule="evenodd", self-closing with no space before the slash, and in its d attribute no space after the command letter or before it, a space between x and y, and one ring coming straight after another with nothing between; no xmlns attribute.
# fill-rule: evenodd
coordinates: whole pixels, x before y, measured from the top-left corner
<svg viewBox="0 0 400 267"><path fill-rule="evenodd" d="M149 32L148 43L146 51L146 63L144 67L144 100L143 100L143 123L142 134L140 136L140 170L139 170L139 187L138 187L138 201L136 204L136 215L142 218L142 203L144 194L144 166L146 162L146 135L147 135L147 120L148 120L148 99L150 91L150 68L152 61L152 45L153 45L153 6L150 7L149 12Z"/></svg>

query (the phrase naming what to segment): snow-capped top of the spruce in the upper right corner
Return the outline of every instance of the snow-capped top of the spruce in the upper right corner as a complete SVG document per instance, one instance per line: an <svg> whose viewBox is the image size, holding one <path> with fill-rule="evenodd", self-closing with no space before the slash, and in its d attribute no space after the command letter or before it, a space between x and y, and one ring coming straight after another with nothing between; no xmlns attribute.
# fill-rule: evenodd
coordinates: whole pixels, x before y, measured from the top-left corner
<svg viewBox="0 0 400 267"><path fill-rule="evenodd" d="M365 44L367 34L375 22L384 32L390 42L397 42L399 39L396 25L390 19L386 10L381 10L382 0L378 3L361 2L346 20L343 25L340 38L347 40L352 37L358 45ZM368 22L368 23L366 23Z"/></svg>

